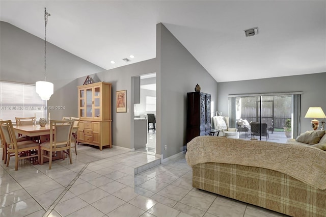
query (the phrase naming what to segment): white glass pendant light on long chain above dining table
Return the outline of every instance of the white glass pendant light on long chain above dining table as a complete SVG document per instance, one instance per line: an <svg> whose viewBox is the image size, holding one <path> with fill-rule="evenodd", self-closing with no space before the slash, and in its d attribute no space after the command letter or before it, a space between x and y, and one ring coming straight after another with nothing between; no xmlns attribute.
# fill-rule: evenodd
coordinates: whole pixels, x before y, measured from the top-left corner
<svg viewBox="0 0 326 217"><path fill-rule="evenodd" d="M45 30L44 30L44 82L39 81L36 82L36 93L39 94L42 100L49 100L51 95L53 94L53 84L46 81L46 24L47 24L47 17L51 16L49 13L46 12L46 8L44 11L44 23L45 23Z"/></svg>

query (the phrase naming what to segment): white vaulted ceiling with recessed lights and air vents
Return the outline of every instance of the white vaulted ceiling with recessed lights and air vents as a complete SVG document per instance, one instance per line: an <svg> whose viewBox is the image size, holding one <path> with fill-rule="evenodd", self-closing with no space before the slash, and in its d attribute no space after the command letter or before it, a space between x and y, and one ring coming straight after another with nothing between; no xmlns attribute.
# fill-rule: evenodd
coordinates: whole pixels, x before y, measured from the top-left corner
<svg viewBox="0 0 326 217"><path fill-rule="evenodd" d="M104 69L155 58L162 22L217 82L326 72L326 1L1 0L0 20L44 38L44 7L47 41Z"/></svg>

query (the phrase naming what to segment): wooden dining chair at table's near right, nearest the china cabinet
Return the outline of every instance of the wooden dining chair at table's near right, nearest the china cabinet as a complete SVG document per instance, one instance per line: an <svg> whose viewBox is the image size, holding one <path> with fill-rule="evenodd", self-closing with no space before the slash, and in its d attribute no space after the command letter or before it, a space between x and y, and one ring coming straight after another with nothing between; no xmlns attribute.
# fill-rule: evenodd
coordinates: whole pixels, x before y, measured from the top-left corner
<svg viewBox="0 0 326 217"><path fill-rule="evenodd" d="M70 144L74 122L75 120L50 120L50 141L41 143L41 165L43 165L44 157L48 158L50 170L52 155L58 151L63 152L63 160L65 159L64 154L68 154L70 164L72 164Z"/></svg>

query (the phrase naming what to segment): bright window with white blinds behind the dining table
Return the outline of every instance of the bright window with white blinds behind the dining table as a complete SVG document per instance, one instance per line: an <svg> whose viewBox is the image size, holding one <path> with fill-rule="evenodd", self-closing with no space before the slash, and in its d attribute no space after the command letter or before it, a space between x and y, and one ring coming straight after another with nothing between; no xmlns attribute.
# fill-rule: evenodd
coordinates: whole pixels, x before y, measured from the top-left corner
<svg viewBox="0 0 326 217"><path fill-rule="evenodd" d="M0 119L16 122L15 117L46 117L46 102L35 91L35 85L0 82Z"/></svg>

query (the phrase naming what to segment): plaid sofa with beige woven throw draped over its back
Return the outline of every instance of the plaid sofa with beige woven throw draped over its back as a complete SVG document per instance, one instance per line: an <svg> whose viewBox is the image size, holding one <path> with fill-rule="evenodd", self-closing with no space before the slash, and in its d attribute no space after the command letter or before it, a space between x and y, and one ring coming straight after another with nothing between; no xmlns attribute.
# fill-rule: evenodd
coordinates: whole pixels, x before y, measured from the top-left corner
<svg viewBox="0 0 326 217"><path fill-rule="evenodd" d="M185 158L196 188L290 216L326 216L326 151L200 136Z"/></svg>

